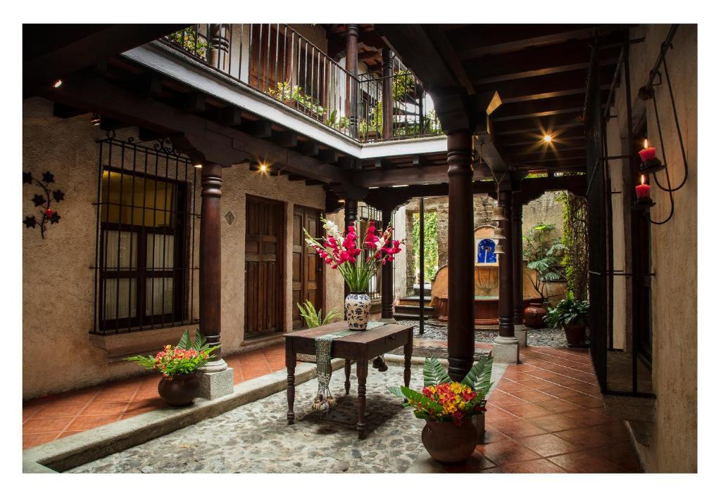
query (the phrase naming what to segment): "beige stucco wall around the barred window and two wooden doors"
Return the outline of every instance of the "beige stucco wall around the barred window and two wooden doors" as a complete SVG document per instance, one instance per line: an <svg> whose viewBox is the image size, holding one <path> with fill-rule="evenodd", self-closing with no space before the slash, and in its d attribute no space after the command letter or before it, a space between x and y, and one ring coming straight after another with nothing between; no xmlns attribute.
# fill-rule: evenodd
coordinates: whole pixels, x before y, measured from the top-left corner
<svg viewBox="0 0 721 497"><path fill-rule="evenodd" d="M123 133L118 132L118 138L125 135L137 136L137 130L129 128ZM134 364L109 362L106 352L89 341L94 305L91 267L94 265L96 228L93 203L97 201L98 146L95 140L99 138L105 138L105 133L91 125L89 115L63 120L53 117L53 106L44 99L23 101L23 171L31 171L36 177L51 171L56 179L53 186L66 194L65 200L57 205L61 222L51 226L45 240L40 238L39 228L23 227L22 231L23 398L142 373ZM37 187L23 184L23 215L37 213L38 209L30 201L37 190ZM199 193L198 185L196 196ZM285 202L287 233L292 233L294 203L317 209L323 209L325 204L322 187L288 182L284 176L260 176L243 165L223 170L221 214L231 211L235 218L232 224L221 220L224 354L242 349L244 339L246 194ZM196 238L198 227L196 224ZM293 307L289 235L286 236L285 251L285 323L289 331ZM197 274L193 303L196 316ZM325 298L324 308L335 306L340 310L342 280L337 272L325 272ZM172 329L169 335L179 336L182 329Z"/></svg>

